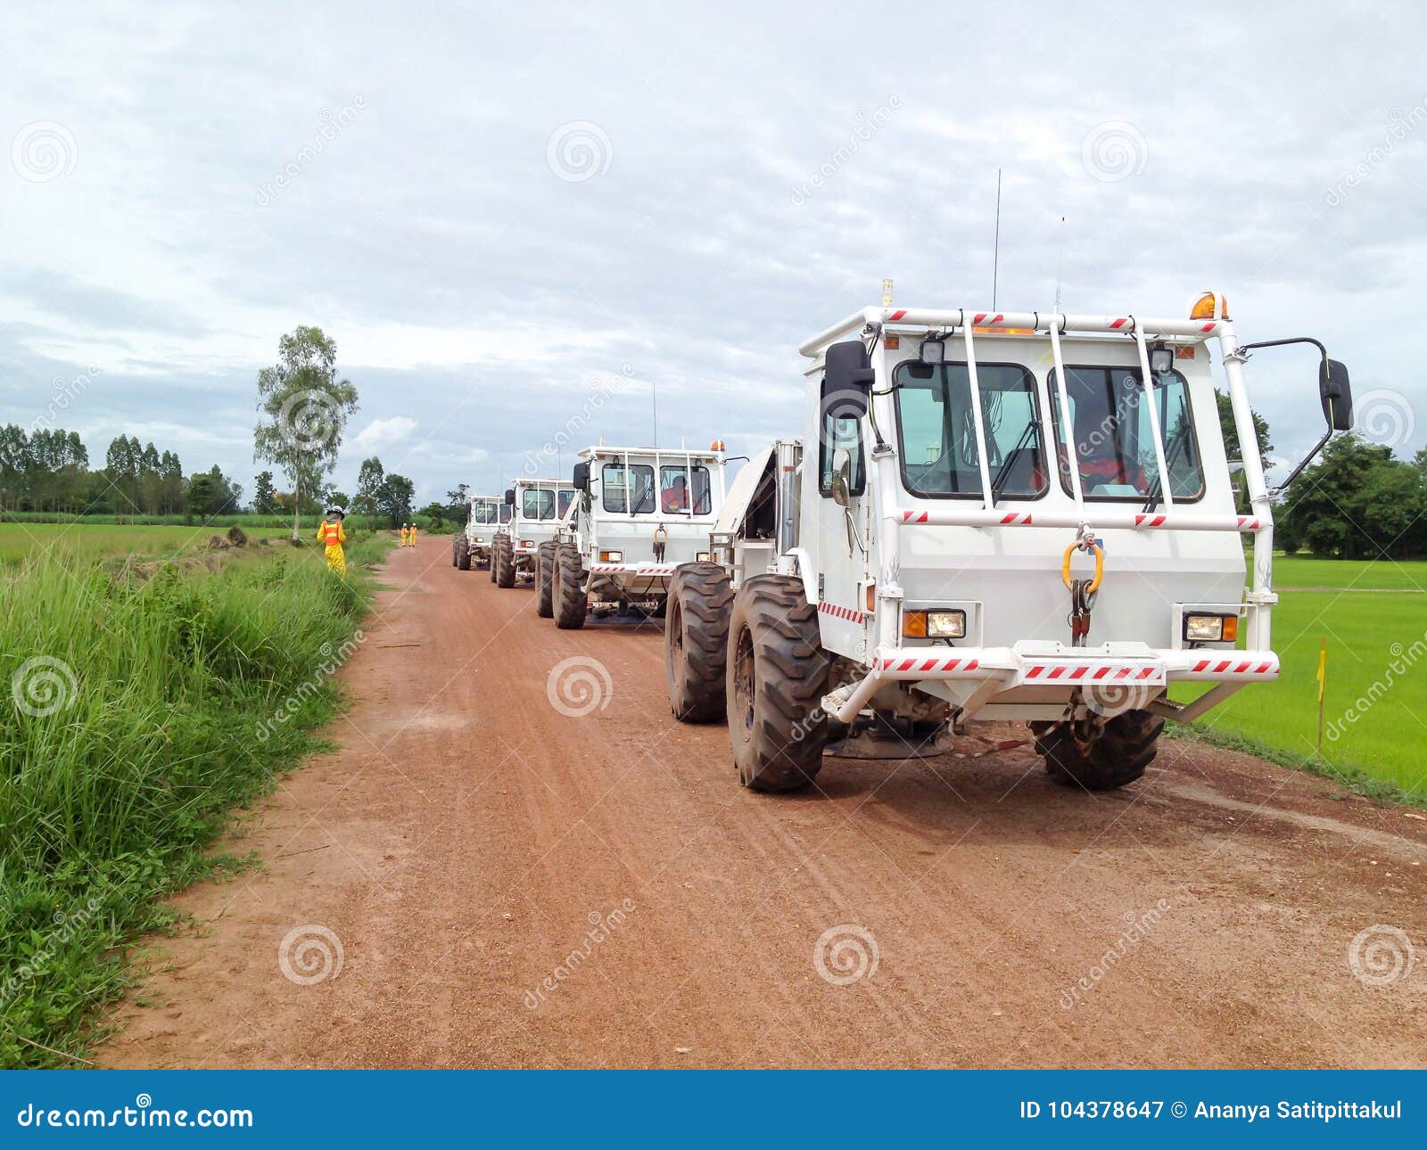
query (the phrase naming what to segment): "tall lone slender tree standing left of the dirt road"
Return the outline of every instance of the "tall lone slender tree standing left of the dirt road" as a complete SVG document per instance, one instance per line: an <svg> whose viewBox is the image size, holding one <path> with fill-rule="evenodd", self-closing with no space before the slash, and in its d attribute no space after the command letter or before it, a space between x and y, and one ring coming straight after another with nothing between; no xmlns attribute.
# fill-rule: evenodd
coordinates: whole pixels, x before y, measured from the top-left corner
<svg viewBox="0 0 1427 1150"><path fill-rule="evenodd" d="M293 542L301 535L303 498L317 492L337 465L357 388L337 377L337 344L318 327L278 340L278 362L258 372L253 458L275 464L293 481ZM311 497L308 497L311 498Z"/></svg>

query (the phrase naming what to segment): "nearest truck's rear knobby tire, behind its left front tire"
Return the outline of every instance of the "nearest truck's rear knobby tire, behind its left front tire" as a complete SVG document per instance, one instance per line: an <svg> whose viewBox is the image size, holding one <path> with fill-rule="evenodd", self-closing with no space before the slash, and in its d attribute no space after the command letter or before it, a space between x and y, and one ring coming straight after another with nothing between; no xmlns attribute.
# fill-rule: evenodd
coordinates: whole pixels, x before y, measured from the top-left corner
<svg viewBox="0 0 1427 1150"><path fill-rule="evenodd" d="M664 615L664 676L679 722L723 718L732 611L733 588L718 564L674 569Z"/></svg>

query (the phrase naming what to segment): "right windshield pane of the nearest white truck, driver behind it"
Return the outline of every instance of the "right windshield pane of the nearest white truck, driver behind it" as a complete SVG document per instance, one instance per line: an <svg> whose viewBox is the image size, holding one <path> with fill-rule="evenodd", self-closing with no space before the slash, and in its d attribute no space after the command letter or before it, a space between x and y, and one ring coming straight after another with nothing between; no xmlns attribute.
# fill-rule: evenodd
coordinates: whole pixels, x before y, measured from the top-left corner
<svg viewBox="0 0 1427 1150"><path fill-rule="evenodd" d="M1050 372L1052 414L1060 484L1070 492L1059 387ZM1204 474L1189 411L1189 390L1177 371L1160 375L1153 387L1154 411L1164 437L1164 462L1176 499L1204 494ZM1087 499L1143 501L1159 488L1154 432L1144 388L1136 368L1067 367L1066 398L1080 464L1080 489Z"/></svg>

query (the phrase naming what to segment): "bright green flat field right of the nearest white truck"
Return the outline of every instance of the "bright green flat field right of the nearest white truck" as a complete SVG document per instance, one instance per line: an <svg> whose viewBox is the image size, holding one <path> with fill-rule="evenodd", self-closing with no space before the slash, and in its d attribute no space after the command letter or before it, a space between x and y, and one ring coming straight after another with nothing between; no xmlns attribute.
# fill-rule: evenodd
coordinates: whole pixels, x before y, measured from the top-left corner
<svg viewBox="0 0 1427 1150"><path fill-rule="evenodd" d="M1273 612L1273 646L1283 661L1279 682L1246 686L1193 723L1193 731L1336 776L1377 798L1427 799L1427 756L1421 753L1427 745L1427 594L1411 589L1427 588L1427 562L1277 556L1274 584L1281 596ZM1287 589L1293 586L1341 589ZM1320 755L1317 669L1324 639ZM1190 699L1204 689L1180 688L1174 698Z"/></svg>

